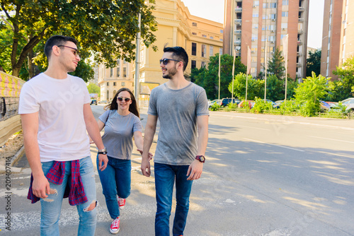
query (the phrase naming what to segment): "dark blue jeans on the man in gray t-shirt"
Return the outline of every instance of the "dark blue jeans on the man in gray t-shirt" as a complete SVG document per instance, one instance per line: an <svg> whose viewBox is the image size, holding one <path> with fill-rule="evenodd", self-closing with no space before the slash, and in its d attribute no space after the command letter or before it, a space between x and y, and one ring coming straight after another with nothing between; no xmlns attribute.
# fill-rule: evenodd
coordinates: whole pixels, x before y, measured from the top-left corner
<svg viewBox="0 0 354 236"><path fill-rule="evenodd" d="M157 211L155 216L155 235L169 236L173 184L176 179L176 213L173 220L172 235L183 235L189 210L189 196L192 180L187 180L189 165L166 165L154 163Z"/></svg>

